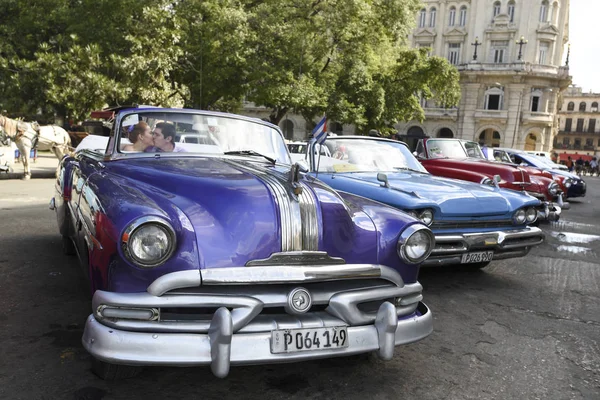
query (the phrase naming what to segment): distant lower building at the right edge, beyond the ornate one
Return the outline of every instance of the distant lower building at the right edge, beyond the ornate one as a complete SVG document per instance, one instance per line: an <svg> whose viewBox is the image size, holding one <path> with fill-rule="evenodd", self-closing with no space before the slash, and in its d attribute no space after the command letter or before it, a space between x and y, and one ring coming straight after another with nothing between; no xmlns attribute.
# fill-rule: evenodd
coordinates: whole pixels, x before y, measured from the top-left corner
<svg viewBox="0 0 600 400"><path fill-rule="evenodd" d="M554 152L564 161L568 156L591 159L600 156L600 93L582 93L580 87L568 88L559 107L559 131Z"/></svg>

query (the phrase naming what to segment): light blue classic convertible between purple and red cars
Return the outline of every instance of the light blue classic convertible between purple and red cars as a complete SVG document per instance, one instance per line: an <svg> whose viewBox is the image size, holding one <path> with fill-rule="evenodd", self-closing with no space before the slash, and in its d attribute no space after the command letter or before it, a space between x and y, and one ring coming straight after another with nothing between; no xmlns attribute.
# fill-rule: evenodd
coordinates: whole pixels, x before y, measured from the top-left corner
<svg viewBox="0 0 600 400"><path fill-rule="evenodd" d="M326 156L309 146L311 175L334 189L394 206L419 218L435 234L436 246L424 265L470 264L521 257L544 239L530 226L539 200L486 184L429 174L394 140L364 136L329 137Z"/></svg>

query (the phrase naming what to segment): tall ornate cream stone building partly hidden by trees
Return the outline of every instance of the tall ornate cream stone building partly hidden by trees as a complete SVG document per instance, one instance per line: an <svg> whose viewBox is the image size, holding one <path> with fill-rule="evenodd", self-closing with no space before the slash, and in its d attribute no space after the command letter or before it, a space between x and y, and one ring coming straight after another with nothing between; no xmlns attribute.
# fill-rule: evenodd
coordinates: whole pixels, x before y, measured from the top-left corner
<svg viewBox="0 0 600 400"><path fill-rule="evenodd" d="M488 146L550 151L560 94L571 82L563 50L569 0L423 0L415 47L460 72L458 107L423 101L425 121L397 125L422 136L483 140Z"/></svg>

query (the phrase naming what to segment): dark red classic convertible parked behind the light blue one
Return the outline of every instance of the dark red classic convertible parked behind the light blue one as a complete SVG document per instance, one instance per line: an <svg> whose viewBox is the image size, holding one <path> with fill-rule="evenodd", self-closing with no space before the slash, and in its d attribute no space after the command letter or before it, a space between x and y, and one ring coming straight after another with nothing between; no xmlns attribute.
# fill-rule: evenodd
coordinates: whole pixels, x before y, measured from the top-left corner
<svg viewBox="0 0 600 400"><path fill-rule="evenodd" d="M476 142L425 138L417 143L415 155L433 175L526 192L541 200L540 220L560 218L562 190L557 182L543 175L532 176L521 166L488 161Z"/></svg>

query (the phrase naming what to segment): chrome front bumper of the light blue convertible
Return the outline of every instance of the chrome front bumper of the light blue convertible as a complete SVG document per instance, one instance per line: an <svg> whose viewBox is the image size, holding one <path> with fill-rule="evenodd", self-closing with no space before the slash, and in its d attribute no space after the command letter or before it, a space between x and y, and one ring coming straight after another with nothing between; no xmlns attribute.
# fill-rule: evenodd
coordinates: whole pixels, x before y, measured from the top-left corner
<svg viewBox="0 0 600 400"><path fill-rule="evenodd" d="M523 257L543 241L544 233L533 226L512 231L436 234L435 248L423 266L460 264L463 254L477 251L493 250L494 260Z"/></svg>

